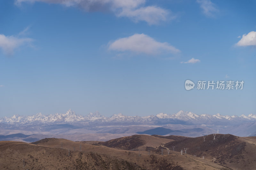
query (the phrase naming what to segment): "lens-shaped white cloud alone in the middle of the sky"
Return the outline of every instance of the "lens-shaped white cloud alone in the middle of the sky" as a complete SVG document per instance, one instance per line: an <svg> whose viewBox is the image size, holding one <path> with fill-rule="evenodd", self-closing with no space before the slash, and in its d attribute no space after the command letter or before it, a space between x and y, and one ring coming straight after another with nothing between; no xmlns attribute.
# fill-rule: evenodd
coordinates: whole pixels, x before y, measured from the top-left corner
<svg viewBox="0 0 256 170"><path fill-rule="evenodd" d="M135 53L145 53L156 55L161 52L179 53L180 50L167 42L158 42L145 34L134 34L130 37L120 38L109 43L109 50L131 51Z"/></svg>

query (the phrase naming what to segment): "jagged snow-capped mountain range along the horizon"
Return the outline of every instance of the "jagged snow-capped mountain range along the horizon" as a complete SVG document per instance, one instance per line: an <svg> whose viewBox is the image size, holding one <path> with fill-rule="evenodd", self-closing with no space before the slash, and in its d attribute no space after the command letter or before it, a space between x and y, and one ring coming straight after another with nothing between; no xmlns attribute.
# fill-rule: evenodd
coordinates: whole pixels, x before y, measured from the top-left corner
<svg viewBox="0 0 256 170"><path fill-rule="evenodd" d="M236 125L245 122L256 122L256 115L250 114L248 116L224 116L220 114L197 115L192 112L185 112L183 110L176 114L159 113L157 115L149 116L126 116L121 113L114 114L111 117L105 117L100 115L99 112L89 113L86 116L78 115L71 109L65 114L51 114L42 115L38 113L36 115L13 115L12 117L3 117L0 119L0 123L4 124L55 124L55 123L68 123L68 124L85 124L85 125L97 125L97 124L194 124L194 125Z"/></svg>

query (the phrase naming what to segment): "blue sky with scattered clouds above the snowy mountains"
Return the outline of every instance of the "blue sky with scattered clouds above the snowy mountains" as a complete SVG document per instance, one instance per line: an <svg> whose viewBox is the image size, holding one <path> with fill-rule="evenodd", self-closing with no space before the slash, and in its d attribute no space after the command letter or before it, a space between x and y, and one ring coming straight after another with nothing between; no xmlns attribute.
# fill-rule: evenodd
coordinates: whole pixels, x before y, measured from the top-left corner
<svg viewBox="0 0 256 170"><path fill-rule="evenodd" d="M256 113L256 2L0 1L0 116ZM185 80L243 80L186 91Z"/></svg>

